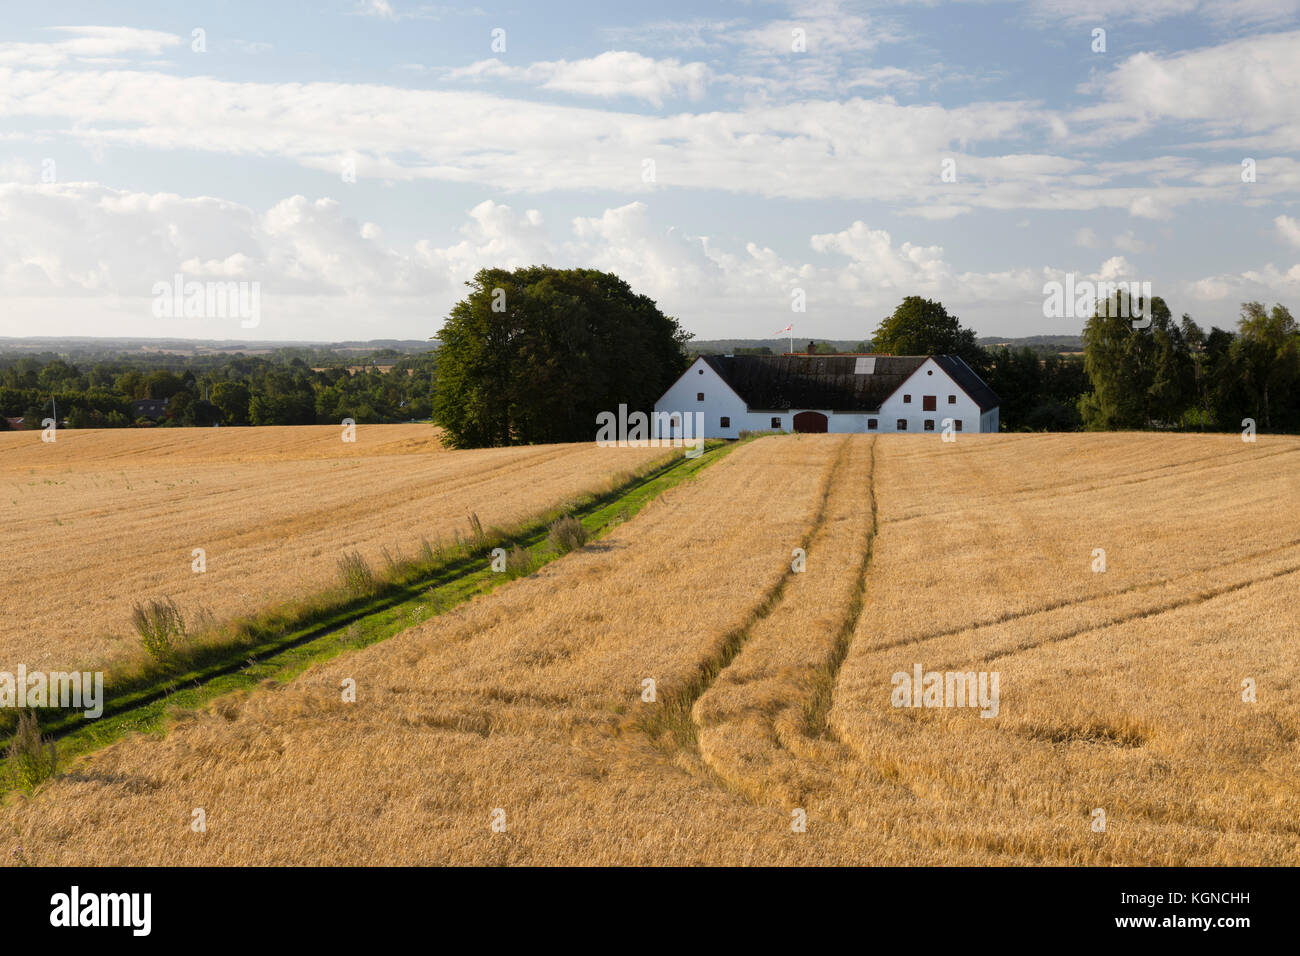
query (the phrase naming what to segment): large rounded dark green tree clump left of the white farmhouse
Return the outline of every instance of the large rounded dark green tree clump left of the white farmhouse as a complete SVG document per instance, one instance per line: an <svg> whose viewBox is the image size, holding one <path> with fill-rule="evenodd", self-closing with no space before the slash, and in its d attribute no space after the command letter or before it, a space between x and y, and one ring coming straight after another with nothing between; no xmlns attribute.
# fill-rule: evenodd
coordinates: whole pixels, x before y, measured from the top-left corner
<svg viewBox="0 0 1300 956"><path fill-rule="evenodd" d="M438 333L433 420L456 447L590 441L595 416L649 411L689 334L618 276L482 269Z"/></svg>

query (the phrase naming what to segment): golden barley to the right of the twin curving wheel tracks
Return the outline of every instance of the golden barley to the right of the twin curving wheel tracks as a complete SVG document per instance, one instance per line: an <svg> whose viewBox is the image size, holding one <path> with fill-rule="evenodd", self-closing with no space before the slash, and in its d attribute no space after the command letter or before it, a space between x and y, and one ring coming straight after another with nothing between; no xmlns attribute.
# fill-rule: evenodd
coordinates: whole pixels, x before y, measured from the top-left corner
<svg viewBox="0 0 1300 956"><path fill-rule="evenodd" d="M889 518L831 722L936 844L1300 861L1300 441L883 440L876 475ZM998 715L893 708L916 663L998 671Z"/></svg>

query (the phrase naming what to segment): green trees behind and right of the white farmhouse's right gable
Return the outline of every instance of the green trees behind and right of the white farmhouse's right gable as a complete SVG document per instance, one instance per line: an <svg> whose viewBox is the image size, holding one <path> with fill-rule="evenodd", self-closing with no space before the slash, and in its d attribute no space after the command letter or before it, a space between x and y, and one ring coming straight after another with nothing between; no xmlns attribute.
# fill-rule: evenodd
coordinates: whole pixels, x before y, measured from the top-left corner
<svg viewBox="0 0 1300 956"><path fill-rule="evenodd" d="M1130 317L1130 316L1136 316ZM1002 431L1300 432L1300 328L1282 304L1242 304L1236 329L1175 321L1160 297L1098 302L1083 354L984 349L939 302L909 297L876 329L876 351L961 356L1001 398Z"/></svg>

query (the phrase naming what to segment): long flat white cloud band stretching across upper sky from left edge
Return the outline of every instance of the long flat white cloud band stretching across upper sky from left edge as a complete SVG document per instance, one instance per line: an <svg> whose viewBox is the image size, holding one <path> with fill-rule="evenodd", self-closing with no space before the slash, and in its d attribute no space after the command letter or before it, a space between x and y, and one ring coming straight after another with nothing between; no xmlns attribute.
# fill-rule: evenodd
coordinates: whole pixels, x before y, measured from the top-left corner
<svg viewBox="0 0 1300 956"><path fill-rule="evenodd" d="M0 68L0 117L61 117L64 135L88 146L278 156L330 176L351 157L368 178L645 193L642 160L654 159L660 186L948 204L939 157L1018 139L1041 111L852 99L641 116L482 92ZM1037 202L1056 206L1069 191L1046 189L1050 178L1035 172ZM979 199L978 190L961 196Z"/></svg>

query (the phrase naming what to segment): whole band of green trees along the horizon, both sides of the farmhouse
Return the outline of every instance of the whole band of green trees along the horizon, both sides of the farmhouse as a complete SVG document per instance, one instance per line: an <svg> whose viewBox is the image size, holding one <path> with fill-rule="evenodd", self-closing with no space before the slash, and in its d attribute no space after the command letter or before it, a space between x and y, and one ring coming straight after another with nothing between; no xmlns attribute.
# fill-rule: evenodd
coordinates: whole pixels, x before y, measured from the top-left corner
<svg viewBox="0 0 1300 956"><path fill-rule="evenodd" d="M437 352L365 359L282 349L268 358L0 358L5 418L39 423L55 405L81 427L146 424L131 408L168 402L164 425L292 425L432 418L456 447L590 441L595 415L649 411L689 364L690 334L615 274L482 269L448 313ZM1002 431L1300 432L1300 329L1282 304L1242 306L1235 329L1175 321L1165 300L1097 303L1082 354L985 349L942 303L905 298L859 351L962 358L1001 399ZM1135 323L1127 317L1141 316ZM760 350L760 351L766 351ZM809 352L833 349L809 342ZM391 364L348 372L347 365Z"/></svg>

